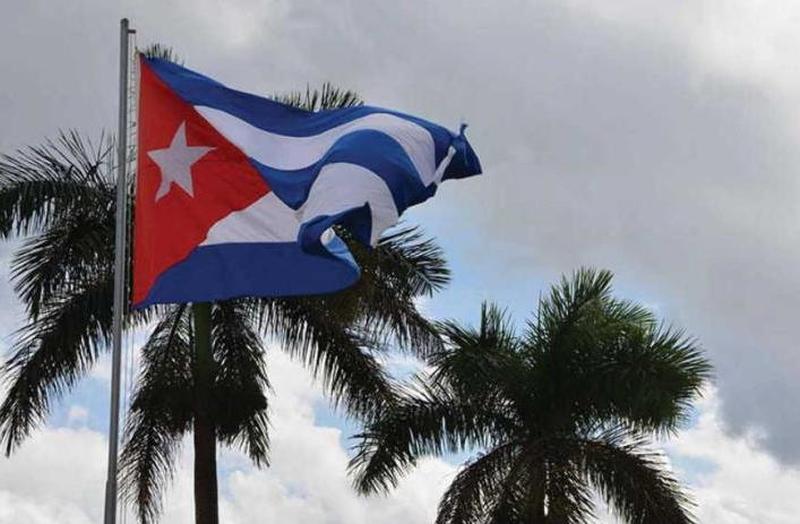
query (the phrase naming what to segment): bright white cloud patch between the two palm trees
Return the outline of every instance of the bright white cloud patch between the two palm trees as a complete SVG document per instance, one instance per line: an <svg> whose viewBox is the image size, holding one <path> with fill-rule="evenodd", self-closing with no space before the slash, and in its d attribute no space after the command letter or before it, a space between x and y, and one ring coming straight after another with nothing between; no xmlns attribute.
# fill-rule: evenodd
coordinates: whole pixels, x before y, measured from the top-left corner
<svg viewBox="0 0 800 524"><path fill-rule="evenodd" d="M272 351L268 362L275 389L272 465L262 471L243 467L230 475L225 487L230 496L221 507L225 522L433 521L453 466L428 459L390 496L356 495L346 475L341 430L315 424L314 408L324 402L319 387L280 351Z"/></svg>

